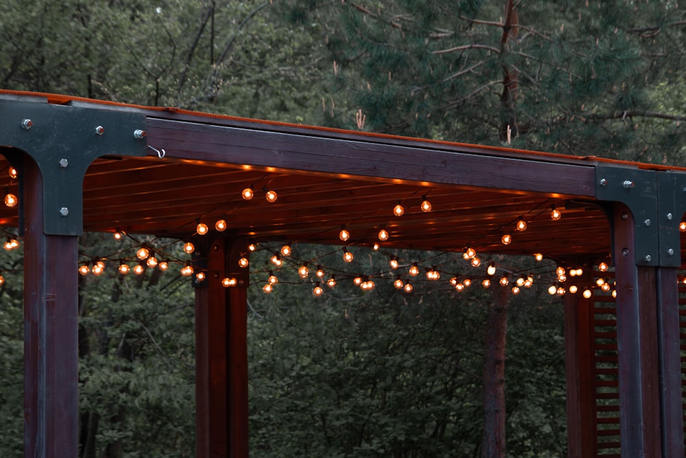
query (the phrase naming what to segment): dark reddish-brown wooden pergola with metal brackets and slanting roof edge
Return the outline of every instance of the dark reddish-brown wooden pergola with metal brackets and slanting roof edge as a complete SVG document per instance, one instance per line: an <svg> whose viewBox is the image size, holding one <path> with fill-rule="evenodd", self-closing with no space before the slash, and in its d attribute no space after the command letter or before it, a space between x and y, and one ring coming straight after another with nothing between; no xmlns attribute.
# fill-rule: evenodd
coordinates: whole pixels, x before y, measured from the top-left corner
<svg viewBox="0 0 686 458"><path fill-rule="evenodd" d="M583 266L589 282L592 266L612 264L616 301L565 295L569 457L684 456L686 169L10 91L0 122L0 170L19 170L0 185L21 202L0 209L0 222L19 227L25 247L25 456L78 455L82 231L189 238L198 220L212 229L222 218L226 231L196 243L207 271L237 279L226 288L209 275L196 288L198 457L248 456L249 279L238 258L253 239L343 244L342 225L348 247L543 253ZM243 201L246 187L278 200ZM519 218L528 229L503 244ZM598 356L601 325L616 345L610 360Z"/></svg>

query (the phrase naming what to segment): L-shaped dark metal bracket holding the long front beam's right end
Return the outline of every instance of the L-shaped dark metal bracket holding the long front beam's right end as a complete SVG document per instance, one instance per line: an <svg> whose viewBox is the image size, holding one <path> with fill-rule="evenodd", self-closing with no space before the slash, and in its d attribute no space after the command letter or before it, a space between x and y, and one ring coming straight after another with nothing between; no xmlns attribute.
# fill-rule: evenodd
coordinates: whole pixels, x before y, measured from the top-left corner
<svg viewBox="0 0 686 458"><path fill-rule="evenodd" d="M638 266L661 265L658 174L653 170L603 163L595 166L595 196L598 200L621 202L631 210L636 240L634 258Z"/></svg>

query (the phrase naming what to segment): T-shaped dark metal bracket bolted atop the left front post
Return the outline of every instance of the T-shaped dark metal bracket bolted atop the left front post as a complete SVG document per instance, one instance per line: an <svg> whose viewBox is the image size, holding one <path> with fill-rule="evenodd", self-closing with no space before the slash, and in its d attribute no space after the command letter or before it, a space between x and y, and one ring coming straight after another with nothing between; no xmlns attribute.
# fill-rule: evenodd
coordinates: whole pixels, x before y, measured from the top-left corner
<svg viewBox="0 0 686 458"><path fill-rule="evenodd" d="M0 100L0 146L19 148L38 164L48 235L81 235L88 166L108 154L145 156L144 129L145 115L136 111Z"/></svg>

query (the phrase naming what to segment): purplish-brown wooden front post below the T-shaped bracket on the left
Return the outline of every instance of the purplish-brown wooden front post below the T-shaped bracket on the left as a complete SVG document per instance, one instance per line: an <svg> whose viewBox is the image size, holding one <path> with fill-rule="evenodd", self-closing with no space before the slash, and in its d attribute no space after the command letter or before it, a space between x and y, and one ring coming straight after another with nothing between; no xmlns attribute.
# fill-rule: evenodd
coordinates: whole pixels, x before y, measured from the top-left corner
<svg viewBox="0 0 686 458"><path fill-rule="evenodd" d="M78 237L43 231L43 176L23 161L24 456L78 456ZM59 209L55 209L59 211Z"/></svg>

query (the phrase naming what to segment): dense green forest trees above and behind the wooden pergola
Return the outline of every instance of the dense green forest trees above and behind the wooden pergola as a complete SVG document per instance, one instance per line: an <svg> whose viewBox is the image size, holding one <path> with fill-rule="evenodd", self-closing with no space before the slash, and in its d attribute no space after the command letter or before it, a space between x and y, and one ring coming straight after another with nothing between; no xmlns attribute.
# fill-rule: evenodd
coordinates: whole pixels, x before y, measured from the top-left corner
<svg viewBox="0 0 686 458"><path fill-rule="evenodd" d="M676 0L8 0L0 87L686 165L685 10ZM81 240L86 257L117 243ZM326 249L299 248L305 259ZM3 253L0 270L0 457L21 457L21 250ZM193 456L191 282L110 270L80 278L82 457ZM281 283L249 292L252 456L565 456L558 297L510 298L506 447L491 453L490 292L340 285L314 299L296 273Z"/></svg>

